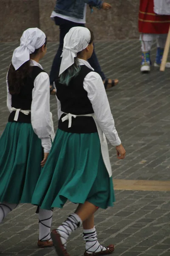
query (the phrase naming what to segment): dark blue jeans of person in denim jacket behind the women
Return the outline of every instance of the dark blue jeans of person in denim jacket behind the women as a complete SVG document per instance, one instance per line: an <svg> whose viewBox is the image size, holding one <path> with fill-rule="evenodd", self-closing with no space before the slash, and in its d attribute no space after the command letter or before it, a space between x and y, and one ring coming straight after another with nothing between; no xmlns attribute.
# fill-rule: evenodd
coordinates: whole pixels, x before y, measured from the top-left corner
<svg viewBox="0 0 170 256"><path fill-rule="evenodd" d="M59 75L59 67L61 64L61 54L62 54L62 48L63 48L63 42L64 42L64 37L67 34L67 32L74 26L83 26L85 27L85 24L82 23L75 23L69 20L64 20L59 17L55 17L55 23L56 25L59 26L59 48L57 50L57 53L54 57L53 64L51 67L50 71L50 84L53 84L54 80L58 77ZM91 55L91 58L88 60L90 63L91 67L94 68L94 71L99 73L101 76L102 80L105 80L105 74L102 72L99 61L97 59L95 51Z"/></svg>

